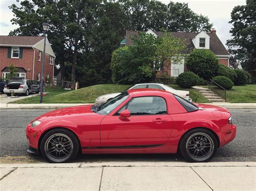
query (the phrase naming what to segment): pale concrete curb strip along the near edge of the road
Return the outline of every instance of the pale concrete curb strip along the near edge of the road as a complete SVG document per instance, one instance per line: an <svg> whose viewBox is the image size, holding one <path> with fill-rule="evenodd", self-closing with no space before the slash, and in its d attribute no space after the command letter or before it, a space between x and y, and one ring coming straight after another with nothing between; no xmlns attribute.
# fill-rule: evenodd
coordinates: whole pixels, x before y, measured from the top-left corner
<svg viewBox="0 0 256 191"><path fill-rule="evenodd" d="M29 163L29 164L0 164L0 168L78 168L78 167L255 167L256 162L88 162L88 163Z"/></svg>

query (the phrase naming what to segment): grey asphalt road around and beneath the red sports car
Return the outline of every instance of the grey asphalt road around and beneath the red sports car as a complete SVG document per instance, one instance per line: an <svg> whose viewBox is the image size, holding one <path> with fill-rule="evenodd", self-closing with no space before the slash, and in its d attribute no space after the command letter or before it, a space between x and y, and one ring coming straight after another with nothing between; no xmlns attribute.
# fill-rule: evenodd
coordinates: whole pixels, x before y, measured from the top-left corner
<svg viewBox="0 0 256 191"><path fill-rule="evenodd" d="M0 110L0 157L28 156L26 125L49 110ZM237 137L220 147L212 161L256 161L256 110L230 110L238 126ZM42 160L41 157L34 157ZM179 154L90 154L80 155L79 162L91 161L184 161Z"/></svg>

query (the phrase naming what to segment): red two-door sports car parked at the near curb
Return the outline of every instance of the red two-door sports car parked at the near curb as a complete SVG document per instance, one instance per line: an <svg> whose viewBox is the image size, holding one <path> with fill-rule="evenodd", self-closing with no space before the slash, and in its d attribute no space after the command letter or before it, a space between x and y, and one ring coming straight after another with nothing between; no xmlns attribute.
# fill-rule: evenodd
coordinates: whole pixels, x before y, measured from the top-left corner
<svg viewBox="0 0 256 191"><path fill-rule="evenodd" d="M82 153L177 153L206 162L234 139L225 108L193 104L164 90L124 91L100 105L48 112L26 128L29 153L68 162Z"/></svg>

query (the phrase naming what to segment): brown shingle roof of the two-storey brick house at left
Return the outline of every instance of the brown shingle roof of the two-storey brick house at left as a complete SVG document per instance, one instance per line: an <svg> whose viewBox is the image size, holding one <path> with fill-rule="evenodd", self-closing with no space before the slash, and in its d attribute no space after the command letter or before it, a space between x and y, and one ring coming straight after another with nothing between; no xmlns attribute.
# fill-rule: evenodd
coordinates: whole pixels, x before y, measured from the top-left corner
<svg viewBox="0 0 256 191"><path fill-rule="evenodd" d="M44 37L0 36L0 45L33 46L41 41L43 38Z"/></svg>

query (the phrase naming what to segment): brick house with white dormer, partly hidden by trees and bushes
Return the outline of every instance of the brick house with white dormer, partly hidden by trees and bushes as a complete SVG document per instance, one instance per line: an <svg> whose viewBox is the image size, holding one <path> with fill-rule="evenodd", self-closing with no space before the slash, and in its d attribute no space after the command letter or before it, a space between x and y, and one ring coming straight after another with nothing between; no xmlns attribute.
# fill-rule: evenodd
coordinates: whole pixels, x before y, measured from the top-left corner
<svg viewBox="0 0 256 191"><path fill-rule="evenodd" d="M133 36L138 36L138 33L149 33L153 34L155 37L163 37L163 32L158 31L126 31L125 39L120 43L120 46L132 45ZM210 49L219 59L219 62L222 65L229 67L230 53L228 53L225 46L221 43L220 39L216 34L216 30L212 30L210 33L201 31L199 33L194 32L170 32L174 37L183 39L187 44L187 49L185 54L190 54L194 49ZM159 74L165 72L168 76L177 77L179 74L186 71L184 66L184 59L181 60L181 63L171 63L168 62L167 66L161 68Z"/></svg>

